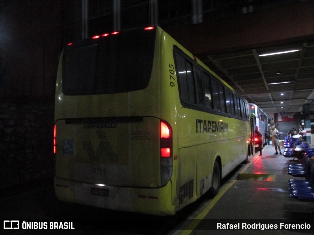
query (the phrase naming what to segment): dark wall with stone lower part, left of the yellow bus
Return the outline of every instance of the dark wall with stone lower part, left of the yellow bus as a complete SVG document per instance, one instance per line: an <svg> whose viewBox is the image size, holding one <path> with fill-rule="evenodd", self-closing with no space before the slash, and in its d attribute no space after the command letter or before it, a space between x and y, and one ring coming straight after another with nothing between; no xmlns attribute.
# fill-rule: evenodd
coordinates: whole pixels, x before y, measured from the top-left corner
<svg viewBox="0 0 314 235"><path fill-rule="evenodd" d="M0 188L53 176L63 0L0 1Z"/></svg>

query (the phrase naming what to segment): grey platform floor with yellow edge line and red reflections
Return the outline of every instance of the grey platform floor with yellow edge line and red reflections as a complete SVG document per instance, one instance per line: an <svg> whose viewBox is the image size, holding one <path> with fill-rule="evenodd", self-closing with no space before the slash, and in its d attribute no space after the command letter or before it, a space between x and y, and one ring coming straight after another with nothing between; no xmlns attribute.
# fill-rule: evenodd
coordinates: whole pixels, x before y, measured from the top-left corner
<svg viewBox="0 0 314 235"><path fill-rule="evenodd" d="M313 147L313 146L312 146ZM283 153L284 147L281 147ZM202 209L195 217L201 220L191 234L208 234L210 221L272 223L272 221L296 221L297 223L314 222L314 202L299 201L290 197L288 180L288 164L297 163L293 158L274 155L275 148L266 145L262 156L258 153L249 158L235 178L222 185L221 192L213 198L208 209ZM203 215L202 215L203 214ZM210 225L212 227L212 225ZM314 227L314 226L313 226ZM211 228L212 229L212 228ZM210 230L211 230L210 229ZM243 230L211 230L210 235L243 235L243 234L314 234L310 230L274 230L274 231L243 231Z"/></svg>

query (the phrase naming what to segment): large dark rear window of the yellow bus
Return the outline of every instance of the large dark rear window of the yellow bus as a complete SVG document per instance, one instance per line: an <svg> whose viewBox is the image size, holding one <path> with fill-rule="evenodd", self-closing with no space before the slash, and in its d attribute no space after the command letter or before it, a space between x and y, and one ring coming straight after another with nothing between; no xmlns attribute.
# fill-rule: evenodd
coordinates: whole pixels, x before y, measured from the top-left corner
<svg viewBox="0 0 314 235"><path fill-rule="evenodd" d="M62 92L94 95L147 87L152 71L155 30L132 31L64 49Z"/></svg>

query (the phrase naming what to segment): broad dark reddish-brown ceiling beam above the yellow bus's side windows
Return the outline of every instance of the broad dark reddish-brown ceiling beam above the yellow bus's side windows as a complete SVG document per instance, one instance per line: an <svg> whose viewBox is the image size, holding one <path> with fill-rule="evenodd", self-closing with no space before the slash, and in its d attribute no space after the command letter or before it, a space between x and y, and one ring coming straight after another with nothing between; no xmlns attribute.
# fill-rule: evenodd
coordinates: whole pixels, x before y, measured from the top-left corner
<svg viewBox="0 0 314 235"><path fill-rule="evenodd" d="M300 1L167 31L196 56L243 51L314 39L313 9L313 1Z"/></svg>

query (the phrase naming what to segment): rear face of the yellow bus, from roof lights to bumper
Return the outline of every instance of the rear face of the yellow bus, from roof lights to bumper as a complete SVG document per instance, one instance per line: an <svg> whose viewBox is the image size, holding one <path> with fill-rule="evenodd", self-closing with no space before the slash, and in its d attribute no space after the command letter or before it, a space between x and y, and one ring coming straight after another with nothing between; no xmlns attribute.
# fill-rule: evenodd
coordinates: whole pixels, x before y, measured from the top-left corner
<svg viewBox="0 0 314 235"><path fill-rule="evenodd" d="M171 102L178 94L169 94L169 74L162 74L173 64L172 50L160 43L163 33L135 30L64 48L55 98L59 200L175 213ZM161 53L170 61L161 61ZM172 108L164 107L165 98Z"/></svg>

